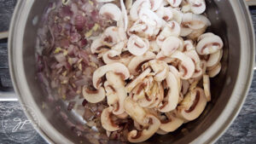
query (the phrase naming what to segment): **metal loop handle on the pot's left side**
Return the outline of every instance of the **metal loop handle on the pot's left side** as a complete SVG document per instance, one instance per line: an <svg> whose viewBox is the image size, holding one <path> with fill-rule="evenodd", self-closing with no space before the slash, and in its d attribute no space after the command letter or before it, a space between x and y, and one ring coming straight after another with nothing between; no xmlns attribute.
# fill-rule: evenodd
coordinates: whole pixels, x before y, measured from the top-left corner
<svg viewBox="0 0 256 144"><path fill-rule="evenodd" d="M9 32L0 32L0 40L8 38ZM15 95L15 91L4 89L3 86L0 89L0 101L18 101L17 95Z"/></svg>

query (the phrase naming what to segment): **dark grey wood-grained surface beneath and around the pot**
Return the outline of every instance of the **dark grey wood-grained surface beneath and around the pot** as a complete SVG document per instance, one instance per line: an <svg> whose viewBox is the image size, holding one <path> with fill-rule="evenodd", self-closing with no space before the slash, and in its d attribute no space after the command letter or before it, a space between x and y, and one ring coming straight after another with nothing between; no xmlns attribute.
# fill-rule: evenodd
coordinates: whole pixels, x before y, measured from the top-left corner
<svg viewBox="0 0 256 144"><path fill-rule="evenodd" d="M16 0L0 0L0 32L8 31L9 21L11 19L13 9L15 8ZM253 25L256 28L256 8L251 7L250 12L253 18ZM0 40L0 90L11 90L11 81L9 78L8 58L7 58L7 40ZM0 95L1 96L1 95ZM4 119L3 114L9 111L10 107L19 107L18 101L0 102L0 120ZM230 128L216 142L217 144L241 144L241 143L256 143L256 73L253 75L253 83L247 95L247 99L241 108L241 112L237 116ZM16 110L19 111L19 110ZM21 113L22 114L22 113ZM24 123L24 122L22 122ZM22 126L20 123L20 127ZM46 144L47 142L38 135L32 128L25 126L24 131L20 134L10 135L8 130L3 128L3 123L0 124L0 144L9 143L29 143L29 144ZM23 141L19 136L29 138L29 141Z"/></svg>

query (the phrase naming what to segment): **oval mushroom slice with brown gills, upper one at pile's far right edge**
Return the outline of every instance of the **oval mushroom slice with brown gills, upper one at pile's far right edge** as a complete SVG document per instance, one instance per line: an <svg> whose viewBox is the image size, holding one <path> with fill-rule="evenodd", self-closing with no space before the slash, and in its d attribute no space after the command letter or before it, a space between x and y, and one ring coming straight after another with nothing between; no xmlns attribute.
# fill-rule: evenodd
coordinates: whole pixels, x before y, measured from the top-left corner
<svg viewBox="0 0 256 144"><path fill-rule="evenodd" d="M217 35L214 35L211 37L204 37L196 45L196 51L199 55L213 54L222 48L223 48L223 41Z"/></svg>

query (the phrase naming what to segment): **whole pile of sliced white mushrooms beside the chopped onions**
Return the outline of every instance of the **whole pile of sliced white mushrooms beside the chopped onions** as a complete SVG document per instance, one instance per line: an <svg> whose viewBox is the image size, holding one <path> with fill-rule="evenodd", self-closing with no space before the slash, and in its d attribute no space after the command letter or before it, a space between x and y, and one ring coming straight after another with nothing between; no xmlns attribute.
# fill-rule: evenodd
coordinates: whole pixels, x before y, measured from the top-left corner
<svg viewBox="0 0 256 144"><path fill-rule="evenodd" d="M97 1L104 3L99 14L116 26L91 44L105 65L83 95L91 103L107 99L101 115L107 133L120 129L114 119L132 118L127 140L142 142L198 118L211 101L209 78L221 70L224 46L205 33L211 26L205 0Z"/></svg>

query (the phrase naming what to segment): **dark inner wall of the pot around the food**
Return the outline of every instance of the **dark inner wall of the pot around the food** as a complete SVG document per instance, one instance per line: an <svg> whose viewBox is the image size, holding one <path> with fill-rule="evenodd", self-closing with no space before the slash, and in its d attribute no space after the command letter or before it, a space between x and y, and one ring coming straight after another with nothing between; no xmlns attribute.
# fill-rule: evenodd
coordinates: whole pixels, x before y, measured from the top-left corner
<svg viewBox="0 0 256 144"><path fill-rule="evenodd" d="M154 135L149 141L143 143L188 143L193 141L198 135L201 135L207 128L218 118L226 103L230 99L236 83L236 76L240 61L240 36L238 26L236 25L236 17L229 0L207 0L207 15L212 21L212 26L208 30L214 32L224 40L224 58L222 60L222 70L217 78L211 80L212 101L207 104L206 110L201 114L200 118L195 121L183 124L183 126L168 135ZM35 43L37 37L37 26L32 26L32 20L38 16L39 20L42 17L44 9L49 4L49 1L34 1L29 19L26 21L26 32L24 36L23 56L26 79L34 100L38 106L44 107L41 111L45 118L48 118L50 124L58 130L62 135L65 135L70 141L79 143L84 141L82 136L77 136L71 127L67 127L67 120L63 120L56 110L56 106L61 107L61 112L67 113L68 119L74 124L79 124L78 118L73 117L72 113L67 112L66 105L63 101L54 103L48 102L48 95L40 86L36 78L36 60L35 60ZM44 126L44 125L41 125ZM86 132L85 132L86 133ZM50 135L49 135L50 137ZM86 143L84 141L84 143ZM118 142L113 142L118 143Z"/></svg>

